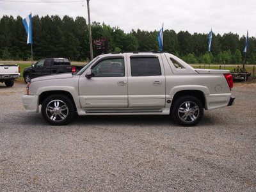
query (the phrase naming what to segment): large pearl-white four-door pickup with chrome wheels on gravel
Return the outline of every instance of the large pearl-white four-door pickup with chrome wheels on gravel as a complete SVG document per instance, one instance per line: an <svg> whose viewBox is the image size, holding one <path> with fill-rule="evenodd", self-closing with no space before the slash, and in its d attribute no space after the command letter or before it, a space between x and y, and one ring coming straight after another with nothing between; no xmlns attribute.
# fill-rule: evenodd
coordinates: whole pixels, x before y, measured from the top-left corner
<svg viewBox="0 0 256 192"><path fill-rule="evenodd" d="M229 70L195 69L163 52L102 54L75 74L31 79L22 96L26 111L52 125L78 115L171 115L192 126L204 109L234 104Z"/></svg>

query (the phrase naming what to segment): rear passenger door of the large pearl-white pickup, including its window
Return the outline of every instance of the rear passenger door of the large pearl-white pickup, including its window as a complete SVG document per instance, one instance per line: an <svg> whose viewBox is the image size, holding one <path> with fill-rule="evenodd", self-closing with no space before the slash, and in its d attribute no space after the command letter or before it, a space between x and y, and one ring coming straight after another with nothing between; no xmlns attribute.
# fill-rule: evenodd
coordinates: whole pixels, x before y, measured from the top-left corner
<svg viewBox="0 0 256 192"><path fill-rule="evenodd" d="M128 74L128 108L164 108L165 76L158 56L131 56Z"/></svg>

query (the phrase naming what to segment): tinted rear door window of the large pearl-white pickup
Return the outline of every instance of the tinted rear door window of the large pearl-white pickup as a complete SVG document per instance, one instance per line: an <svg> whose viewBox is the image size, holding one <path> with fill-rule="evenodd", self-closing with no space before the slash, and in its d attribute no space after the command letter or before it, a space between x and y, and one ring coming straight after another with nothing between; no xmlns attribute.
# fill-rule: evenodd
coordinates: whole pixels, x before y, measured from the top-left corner
<svg viewBox="0 0 256 192"><path fill-rule="evenodd" d="M161 76L158 58L131 58L132 76Z"/></svg>

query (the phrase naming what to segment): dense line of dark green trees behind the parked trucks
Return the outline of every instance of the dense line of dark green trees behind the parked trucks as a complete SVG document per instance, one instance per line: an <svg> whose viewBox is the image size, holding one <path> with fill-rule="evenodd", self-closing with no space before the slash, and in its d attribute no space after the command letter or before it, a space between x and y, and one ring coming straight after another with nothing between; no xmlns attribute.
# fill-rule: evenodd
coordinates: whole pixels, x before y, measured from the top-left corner
<svg viewBox="0 0 256 192"><path fill-rule="evenodd" d="M58 15L32 17L33 58L63 57L71 61L88 61L90 58L88 24L84 17L73 19ZM108 50L116 51L159 51L158 31L132 29L124 33L119 27L104 23L92 23L92 39L108 38ZM22 17L4 15L0 20L0 60L31 60L31 44L26 44L27 34ZM188 63L246 63L255 64L256 40L250 37L248 52L243 53L246 36L234 33L212 34L211 52L208 52L208 33L190 34L164 30L163 52L170 52ZM97 56L102 50L94 50Z"/></svg>

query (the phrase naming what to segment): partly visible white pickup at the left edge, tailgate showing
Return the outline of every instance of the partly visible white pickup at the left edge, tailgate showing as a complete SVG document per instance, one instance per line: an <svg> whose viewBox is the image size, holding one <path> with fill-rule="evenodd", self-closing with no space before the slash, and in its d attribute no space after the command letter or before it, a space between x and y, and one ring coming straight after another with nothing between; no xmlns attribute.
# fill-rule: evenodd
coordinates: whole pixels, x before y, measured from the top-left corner
<svg viewBox="0 0 256 192"><path fill-rule="evenodd" d="M20 77L20 67L17 64L0 64L0 82L13 86L15 79Z"/></svg>

